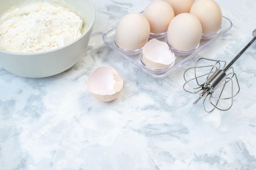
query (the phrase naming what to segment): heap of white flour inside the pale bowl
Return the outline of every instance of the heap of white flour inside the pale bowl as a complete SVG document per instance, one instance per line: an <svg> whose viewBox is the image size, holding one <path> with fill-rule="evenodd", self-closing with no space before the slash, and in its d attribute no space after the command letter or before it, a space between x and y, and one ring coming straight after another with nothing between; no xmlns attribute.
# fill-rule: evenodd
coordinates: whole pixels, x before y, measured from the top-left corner
<svg viewBox="0 0 256 170"><path fill-rule="evenodd" d="M0 24L0 49L33 53L53 50L81 36L83 20L65 7L43 6Z"/></svg>

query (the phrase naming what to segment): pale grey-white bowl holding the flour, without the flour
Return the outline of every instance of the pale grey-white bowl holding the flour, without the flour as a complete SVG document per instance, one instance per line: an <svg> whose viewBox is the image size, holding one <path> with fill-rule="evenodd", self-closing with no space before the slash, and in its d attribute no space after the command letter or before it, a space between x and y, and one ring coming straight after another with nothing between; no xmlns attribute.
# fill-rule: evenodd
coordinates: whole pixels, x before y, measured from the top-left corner
<svg viewBox="0 0 256 170"><path fill-rule="evenodd" d="M83 56L92 34L95 8L91 0L0 0L0 17L10 7L29 2L51 2L70 7L85 22L82 36L70 44L46 52L24 54L0 50L0 66L8 72L29 78L52 76L72 67Z"/></svg>

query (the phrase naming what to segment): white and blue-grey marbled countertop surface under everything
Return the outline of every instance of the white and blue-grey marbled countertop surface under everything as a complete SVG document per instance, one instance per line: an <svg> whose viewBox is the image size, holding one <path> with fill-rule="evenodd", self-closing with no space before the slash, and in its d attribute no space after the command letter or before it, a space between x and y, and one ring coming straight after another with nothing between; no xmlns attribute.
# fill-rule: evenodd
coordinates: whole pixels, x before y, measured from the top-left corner
<svg viewBox="0 0 256 170"><path fill-rule="evenodd" d="M252 39L254 0L216 0L233 27L165 78L153 78L104 44L125 14L152 0L92 0L97 12L84 56L47 78L0 68L1 170L255 170L256 44L234 63L240 92L228 111L204 111L182 88L201 57L231 61ZM114 67L120 96L100 102L87 90L92 70Z"/></svg>

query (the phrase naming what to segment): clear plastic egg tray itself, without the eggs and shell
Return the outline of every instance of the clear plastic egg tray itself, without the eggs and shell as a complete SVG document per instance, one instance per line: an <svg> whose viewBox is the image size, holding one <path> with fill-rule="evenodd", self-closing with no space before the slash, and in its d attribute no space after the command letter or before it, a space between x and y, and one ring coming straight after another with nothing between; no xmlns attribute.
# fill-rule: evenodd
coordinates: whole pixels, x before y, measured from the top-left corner
<svg viewBox="0 0 256 170"><path fill-rule="evenodd" d="M215 41L216 39L218 39L219 37L221 37L222 35L227 33L231 29L232 25L233 25L232 22L227 17L222 16L221 29L220 29L220 31L217 34L212 35L211 37L208 37L206 39L202 38L200 40L200 44L199 44L198 48L196 48L192 53L190 53L188 55L179 55L179 54L176 53L175 54L176 55L175 62L171 65L171 67L168 67L168 68L162 69L162 70L161 69L160 70L156 70L156 69L148 68L143 63L143 60L141 59L142 49L140 51L136 51L135 53L133 53L131 51L124 51L124 50L118 48L118 46L115 44L116 27L112 28L110 31L108 31L107 33L105 33L103 35L103 41L104 41L104 43L107 46L109 46L113 50L115 50L115 51L119 52L120 54L122 54L126 59L130 60L139 69L143 70L144 72L146 72L150 76L152 76L154 78L164 78L164 77L168 76L171 72L173 72L173 71L177 70L178 68L180 68L180 66L182 66L189 59L191 59L196 54L198 54L198 52L204 50L213 41ZM149 40L150 39L152 39L152 38L149 38ZM161 37L158 40L166 42L166 36ZM170 50L172 50L172 49L170 48Z"/></svg>

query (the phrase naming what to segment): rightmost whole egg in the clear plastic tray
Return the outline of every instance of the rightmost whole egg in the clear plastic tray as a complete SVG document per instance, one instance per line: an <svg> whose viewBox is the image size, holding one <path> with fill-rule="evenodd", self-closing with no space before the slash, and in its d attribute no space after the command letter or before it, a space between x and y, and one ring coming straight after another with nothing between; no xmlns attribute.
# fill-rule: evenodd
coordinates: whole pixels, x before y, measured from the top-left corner
<svg viewBox="0 0 256 170"><path fill-rule="evenodd" d="M192 5L190 13L198 17L203 34L218 33L222 24L222 12L214 0L197 0Z"/></svg>

